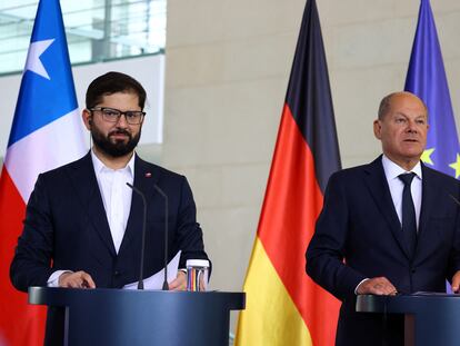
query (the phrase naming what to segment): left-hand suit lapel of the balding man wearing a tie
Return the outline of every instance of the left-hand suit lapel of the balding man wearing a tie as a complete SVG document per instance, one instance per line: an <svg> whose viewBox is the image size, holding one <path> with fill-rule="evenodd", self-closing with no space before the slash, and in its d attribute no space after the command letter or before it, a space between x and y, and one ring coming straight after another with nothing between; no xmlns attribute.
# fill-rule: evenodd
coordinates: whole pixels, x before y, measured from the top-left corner
<svg viewBox="0 0 460 346"><path fill-rule="evenodd" d="M388 187L388 181L384 176L382 157L380 156L374 161L369 164L366 171L367 187L370 190L374 202L379 207L380 212L383 215L383 218L390 227L399 247L409 258L409 251L402 235L401 223L399 221L398 214L394 209L390 188Z"/></svg>

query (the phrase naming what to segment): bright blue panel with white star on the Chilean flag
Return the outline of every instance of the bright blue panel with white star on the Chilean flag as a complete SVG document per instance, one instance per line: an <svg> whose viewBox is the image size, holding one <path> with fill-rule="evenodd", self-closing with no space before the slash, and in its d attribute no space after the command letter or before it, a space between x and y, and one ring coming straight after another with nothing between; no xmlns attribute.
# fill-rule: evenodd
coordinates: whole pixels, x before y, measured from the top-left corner
<svg viewBox="0 0 460 346"><path fill-rule="evenodd" d="M77 107L59 0L41 0L8 147Z"/></svg>

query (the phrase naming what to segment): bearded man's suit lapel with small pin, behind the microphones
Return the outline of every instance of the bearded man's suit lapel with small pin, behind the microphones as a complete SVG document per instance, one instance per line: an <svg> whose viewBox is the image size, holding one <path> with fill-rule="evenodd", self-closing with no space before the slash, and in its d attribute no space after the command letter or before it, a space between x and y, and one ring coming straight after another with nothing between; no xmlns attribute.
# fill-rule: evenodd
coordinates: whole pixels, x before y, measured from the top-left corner
<svg viewBox="0 0 460 346"><path fill-rule="evenodd" d="M137 187L146 196L147 207L149 206L153 196L153 186L159 179L159 171L154 166L147 164L136 155L134 161L134 187ZM127 229L124 231L123 241L120 250L128 248L130 243L142 234L143 223L143 202L142 198L132 191L131 210L129 214Z"/></svg>

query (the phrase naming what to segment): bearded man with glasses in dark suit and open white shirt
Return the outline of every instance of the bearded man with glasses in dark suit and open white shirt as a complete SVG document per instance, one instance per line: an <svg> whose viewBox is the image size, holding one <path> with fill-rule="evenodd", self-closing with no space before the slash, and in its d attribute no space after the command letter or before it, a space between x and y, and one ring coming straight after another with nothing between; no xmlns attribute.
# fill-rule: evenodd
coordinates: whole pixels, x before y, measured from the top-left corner
<svg viewBox="0 0 460 346"><path fill-rule="evenodd" d="M144 277L164 258L164 200L168 196L170 260L208 259L196 206L183 176L139 158L146 91L130 76L108 72L87 91L82 119L92 149L81 159L39 176L30 196L24 228L11 264L11 281L30 286L121 288L139 279L143 205L147 199ZM179 270L170 289L186 288ZM63 310L50 310L47 344L62 344ZM50 329L52 328L52 330Z"/></svg>

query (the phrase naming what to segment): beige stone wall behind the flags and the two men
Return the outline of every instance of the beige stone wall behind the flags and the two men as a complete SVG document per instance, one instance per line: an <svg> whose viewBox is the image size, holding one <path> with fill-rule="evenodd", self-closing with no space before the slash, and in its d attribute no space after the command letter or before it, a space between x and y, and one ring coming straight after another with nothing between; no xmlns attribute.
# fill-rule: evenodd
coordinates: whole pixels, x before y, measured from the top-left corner
<svg viewBox="0 0 460 346"><path fill-rule="evenodd" d="M318 0L344 167L380 149L381 97L403 88L418 0ZM213 260L212 287L242 287L303 0L169 0L163 165L186 174ZM460 2L432 1L460 115ZM459 122L459 120L457 120Z"/></svg>

